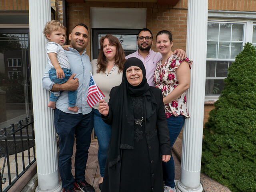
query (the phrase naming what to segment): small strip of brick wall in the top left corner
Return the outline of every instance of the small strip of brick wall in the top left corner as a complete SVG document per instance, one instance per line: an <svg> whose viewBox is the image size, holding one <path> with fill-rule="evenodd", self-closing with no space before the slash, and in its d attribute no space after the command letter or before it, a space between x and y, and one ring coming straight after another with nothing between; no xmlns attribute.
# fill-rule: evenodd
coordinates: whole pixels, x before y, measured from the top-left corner
<svg viewBox="0 0 256 192"><path fill-rule="evenodd" d="M0 0L0 10L28 10L28 0Z"/></svg>

